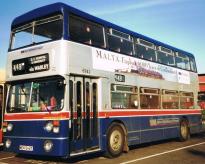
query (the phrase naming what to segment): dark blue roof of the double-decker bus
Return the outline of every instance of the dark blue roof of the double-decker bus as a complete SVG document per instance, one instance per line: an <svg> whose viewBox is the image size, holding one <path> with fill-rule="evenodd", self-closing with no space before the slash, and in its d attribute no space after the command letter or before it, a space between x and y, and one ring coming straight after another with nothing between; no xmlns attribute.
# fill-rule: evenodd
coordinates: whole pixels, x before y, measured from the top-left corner
<svg viewBox="0 0 205 164"><path fill-rule="evenodd" d="M55 14L55 13L62 13L63 15L67 15L69 12L71 12L73 14L76 14L76 15L78 15L80 17L86 18L86 19L88 19L90 21L94 21L96 23L99 23L99 24L101 24L101 25L103 25L105 27L113 28L113 29L118 30L120 32L127 33L127 34L129 34L131 36L134 36L136 38L144 39L146 41L154 43L155 45L162 46L162 47L165 47L165 48L171 49L173 51L177 51L177 52L186 54L187 56L194 58L193 54L191 54L189 52L180 50L178 48L172 47L170 45L167 45L167 44L162 43L160 41L154 40L154 39L149 38L147 36L144 36L142 34L133 32L131 30L125 29L123 27L120 27L120 26L115 25L113 23L110 23L108 21L102 20L100 18L92 16L92 15L90 15L88 13L80 11L80 10L78 10L78 9L76 9L74 7L71 7L69 5L66 5L64 3L54 3L54 4L50 4L50 5L47 5L47 6L43 6L43 7L34 9L32 11L29 11L29 12L27 12L27 13L25 13L25 14L17 17L17 18L15 18L13 20L13 22L12 22L12 26L11 27L15 28L16 26L19 26L19 25L24 24L26 22L30 22L30 21L39 19L41 17L45 17L45 16L52 15L52 14Z"/></svg>

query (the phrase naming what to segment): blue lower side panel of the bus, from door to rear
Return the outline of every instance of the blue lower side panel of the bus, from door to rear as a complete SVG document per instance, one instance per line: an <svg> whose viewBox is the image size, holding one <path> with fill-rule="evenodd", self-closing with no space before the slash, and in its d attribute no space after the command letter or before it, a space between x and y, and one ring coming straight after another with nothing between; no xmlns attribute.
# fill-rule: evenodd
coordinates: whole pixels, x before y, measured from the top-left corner
<svg viewBox="0 0 205 164"><path fill-rule="evenodd" d="M112 122L122 122L128 132L128 145L136 145L179 137L180 120L182 118L188 119L191 134L200 132L202 127L200 115L169 115L101 119L100 130L102 134L102 150L106 150L106 132Z"/></svg>

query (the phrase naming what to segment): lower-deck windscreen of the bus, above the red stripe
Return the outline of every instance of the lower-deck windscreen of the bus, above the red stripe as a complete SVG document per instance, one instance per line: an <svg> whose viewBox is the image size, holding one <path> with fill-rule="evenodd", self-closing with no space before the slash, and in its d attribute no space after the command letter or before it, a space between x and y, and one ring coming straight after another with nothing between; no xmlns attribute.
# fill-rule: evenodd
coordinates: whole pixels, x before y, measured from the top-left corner
<svg viewBox="0 0 205 164"><path fill-rule="evenodd" d="M64 104L63 80L33 81L12 84L7 112L59 111Z"/></svg>

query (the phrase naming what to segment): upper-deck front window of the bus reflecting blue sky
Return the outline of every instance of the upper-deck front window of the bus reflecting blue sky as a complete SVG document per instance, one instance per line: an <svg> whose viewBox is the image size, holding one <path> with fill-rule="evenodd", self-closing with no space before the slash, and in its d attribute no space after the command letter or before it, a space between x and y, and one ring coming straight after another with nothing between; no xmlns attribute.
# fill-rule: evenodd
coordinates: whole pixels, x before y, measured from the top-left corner
<svg viewBox="0 0 205 164"><path fill-rule="evenodd" d="M12 30L10 49L57 40L62 37L62 33L61 15L33 21Z"/></svg>

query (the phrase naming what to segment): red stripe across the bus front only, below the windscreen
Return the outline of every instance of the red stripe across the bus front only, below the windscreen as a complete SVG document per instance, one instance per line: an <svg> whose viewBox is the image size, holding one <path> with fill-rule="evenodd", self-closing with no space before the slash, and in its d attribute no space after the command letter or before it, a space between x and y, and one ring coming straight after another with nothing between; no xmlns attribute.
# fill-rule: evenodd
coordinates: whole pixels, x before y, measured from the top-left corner
<svg viewBox="0 0 205 164"><path fill-rule="evenodd" d="M18 113L18 114L5 114L4 120L35 120L35 119L44 119L44 120L61 120L69 118L69 112L48 112L48 113Z"/></svg>

